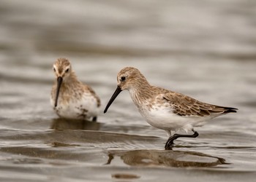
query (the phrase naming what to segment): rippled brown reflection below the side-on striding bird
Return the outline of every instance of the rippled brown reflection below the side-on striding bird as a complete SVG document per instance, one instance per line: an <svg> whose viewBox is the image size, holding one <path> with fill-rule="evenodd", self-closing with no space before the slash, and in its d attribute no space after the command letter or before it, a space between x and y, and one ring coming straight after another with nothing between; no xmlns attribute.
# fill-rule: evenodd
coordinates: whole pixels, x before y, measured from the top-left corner
<svg viewBox="0 0 256 182"><path fill-rule="evenodd" d="M215 167L228 164L220 157L195 151L135 150L109 151L105 165L110 165L115 157L120 157L130 166Z"/></svg>

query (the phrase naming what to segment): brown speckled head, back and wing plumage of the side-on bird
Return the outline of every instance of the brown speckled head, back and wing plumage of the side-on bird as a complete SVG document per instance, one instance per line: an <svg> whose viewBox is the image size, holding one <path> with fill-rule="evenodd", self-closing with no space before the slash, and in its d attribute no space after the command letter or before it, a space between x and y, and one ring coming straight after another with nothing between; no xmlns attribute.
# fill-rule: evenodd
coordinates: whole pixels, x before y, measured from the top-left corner
<svg viewBox="0 0 256 182"><path fill-rule="evenodd" d="M218 116L220 114L236 112L236 108L203 103L178 92L151 86L145 76L136 68L127 67L122 69L117 77L121 78L122 76L127 76L127 81L120 82L119 79L120 87L124 89L132 87L132 90L135 90L133 92L134 97L132 98L135 105L138 107L143 103L147 103L146 106L150 109L152 108L152 104L156 102L160 105L169 103L173 113L179 116Z"/></svg>

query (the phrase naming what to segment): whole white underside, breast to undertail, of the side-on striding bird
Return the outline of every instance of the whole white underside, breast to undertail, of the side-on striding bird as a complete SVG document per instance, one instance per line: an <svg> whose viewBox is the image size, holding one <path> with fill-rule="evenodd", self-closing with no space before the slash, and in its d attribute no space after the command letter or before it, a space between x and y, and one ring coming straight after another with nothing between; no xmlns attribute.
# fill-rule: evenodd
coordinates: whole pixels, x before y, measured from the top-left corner
<svg viewBox="0 0 256 182"><path fill-rule="evenodd" d="M152 100L140 100L136 90L129 89L129 94L148 124L162 130L185 130L187 132L193 127L203 126L208 119L211 119L210 116L179 116L173 112L173 107L169 102L159 99L162 95L157 95L157 98Z"/></svg>

